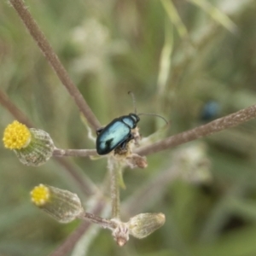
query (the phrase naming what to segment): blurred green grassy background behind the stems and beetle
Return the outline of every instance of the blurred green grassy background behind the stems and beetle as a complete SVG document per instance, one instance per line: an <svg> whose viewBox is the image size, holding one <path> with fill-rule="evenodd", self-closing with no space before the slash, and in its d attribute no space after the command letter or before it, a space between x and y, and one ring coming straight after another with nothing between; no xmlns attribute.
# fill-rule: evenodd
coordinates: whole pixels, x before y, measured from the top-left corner
<svg viewBox="0 0 256 256"><path fill-rule="evenodd" d="M133 111L129 90L139 113L171 120L161 137L256 102L256 1L26 4L102 125ZM7 1L0 3L0 74L1 90L36 127L49 132L57 147L95 147L73 98ZM0 112L3 131L14 118L2 106ZM162 125L161 119L146 116L139 123L143 137ZM132 211L164 212L166 224L142 241L131 238L122 248L108 230L100 230L86 255L256 255L255 125L253 120L149 155L147 169L125 170L122 201L132 200L145 183L176 167L179 178L160 185L155 198ZM26 167L3 144L0 152L0 255L47 255L79 221L56 223L32 205L29 192L46 183L84 196L54 160ZM68 161L101 186L106 160Z"/></svg>

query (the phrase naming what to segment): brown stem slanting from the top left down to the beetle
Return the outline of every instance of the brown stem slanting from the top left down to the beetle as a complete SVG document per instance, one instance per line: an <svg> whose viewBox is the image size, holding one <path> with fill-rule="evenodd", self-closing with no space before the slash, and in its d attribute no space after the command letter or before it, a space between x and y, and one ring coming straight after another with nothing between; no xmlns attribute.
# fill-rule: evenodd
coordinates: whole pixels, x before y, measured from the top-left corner
<svg viewBox="0 0 256 256"><path fill-rule="evenodd" d="M20 19L23 21L27 30L30 32L32 38L38 44L38 47L44 53L45 58L49 61L50 66L54 69L58 78L61 80L61 83L67 88L67 91L71 96L73 96L74 101L76 102L79 110L84 114L84 117L88 120L89 124L96 130L101 127L99 121L96 119L96 116L91 111L87 102L85 102L84 97L79 92L75 84L73 84L72 79L68 76L66 69L61 64L58 56L55 54L54 50L50 46L47 39L44 37L44 33L38 27L36 21L32 18L32 15L28 11L28 8L25 6L22 0L9 0L9 3L17 11Z"/></svg>

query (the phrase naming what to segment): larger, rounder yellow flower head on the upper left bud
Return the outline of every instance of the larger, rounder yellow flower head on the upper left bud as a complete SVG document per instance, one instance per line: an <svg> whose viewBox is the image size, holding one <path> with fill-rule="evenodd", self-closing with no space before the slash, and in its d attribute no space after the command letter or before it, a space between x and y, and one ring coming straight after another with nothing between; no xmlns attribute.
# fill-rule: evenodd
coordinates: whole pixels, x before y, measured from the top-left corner
<svg viewBox="0 0 256 256"><path fill-rule="evenodd" d="M26 125L14 121L8 125L3 132L3 144L5 148L20 149L25 148L31 140L31 132Z"/></svg>

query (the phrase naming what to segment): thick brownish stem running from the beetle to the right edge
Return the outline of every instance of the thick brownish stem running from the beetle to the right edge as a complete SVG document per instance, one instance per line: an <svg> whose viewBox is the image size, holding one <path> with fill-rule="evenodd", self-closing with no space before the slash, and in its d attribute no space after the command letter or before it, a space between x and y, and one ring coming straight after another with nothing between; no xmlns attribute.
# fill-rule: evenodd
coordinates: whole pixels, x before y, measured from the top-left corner
<svg viewBox="0 0 256 256"><path fill-rule="evenodd" d="M135 152L140 155L153 154L167 148L172 148L177 145L188 143L195 139L211 135L217 131L222 131L236 125L241 125L242 123L245 123L254 118L256 118L256 105L241 109L240 111L226 115L223 118L213 120L207 125L195 127L192 130L178 133L172 137L167 137L166 139L157 143L138 148Z"/></svg>

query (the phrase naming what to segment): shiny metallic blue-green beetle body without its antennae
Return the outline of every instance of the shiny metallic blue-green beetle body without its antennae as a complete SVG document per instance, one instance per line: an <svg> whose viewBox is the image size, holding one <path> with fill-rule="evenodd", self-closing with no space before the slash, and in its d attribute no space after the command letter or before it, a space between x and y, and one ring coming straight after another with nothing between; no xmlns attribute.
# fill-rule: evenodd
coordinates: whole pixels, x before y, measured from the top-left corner
<svg viewBox="0 0 256 256"><path fill-rule="evenodd" d="M108 154L114 148L125 147L132 137L131 129L137 126L139 117L136 113L129 113L113 119L107 126L97 130L96 151L98 154Z"/></svg>

